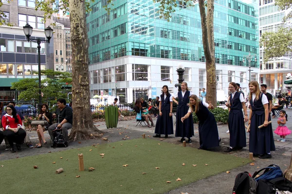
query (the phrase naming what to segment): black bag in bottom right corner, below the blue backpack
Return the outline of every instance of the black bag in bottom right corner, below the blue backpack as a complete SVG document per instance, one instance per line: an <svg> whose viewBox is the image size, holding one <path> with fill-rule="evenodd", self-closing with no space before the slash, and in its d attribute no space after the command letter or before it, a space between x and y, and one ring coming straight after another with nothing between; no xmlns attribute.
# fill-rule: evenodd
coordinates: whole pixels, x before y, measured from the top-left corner
<svg viewBox="0 0 292 194"><path fill-rule="evenodd" d="M276 189L292 192L292 182L284 177L272 180L260 179L257 183L256 194L275 194Z"/></svg>

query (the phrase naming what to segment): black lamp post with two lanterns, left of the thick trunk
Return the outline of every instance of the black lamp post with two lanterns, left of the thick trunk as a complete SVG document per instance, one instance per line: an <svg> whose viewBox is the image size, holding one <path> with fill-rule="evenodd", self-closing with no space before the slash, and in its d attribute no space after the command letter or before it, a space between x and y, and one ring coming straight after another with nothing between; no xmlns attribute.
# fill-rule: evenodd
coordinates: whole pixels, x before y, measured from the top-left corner
<svg viewBox="0 0 292 194"><path fill-rule="evenodd" d="M37 52L38 52L38 110L41 111L42 99L41 99L41 83L40 83L40 43L50 43L50 39L53 36L53 29L49 26L45 29L45 34L48 40L41 40L40 38L31 39L30 36L33 33L33 27L29 24L23 26L23 32L27 38L27 42L32 41L37 43Z"/></svg>

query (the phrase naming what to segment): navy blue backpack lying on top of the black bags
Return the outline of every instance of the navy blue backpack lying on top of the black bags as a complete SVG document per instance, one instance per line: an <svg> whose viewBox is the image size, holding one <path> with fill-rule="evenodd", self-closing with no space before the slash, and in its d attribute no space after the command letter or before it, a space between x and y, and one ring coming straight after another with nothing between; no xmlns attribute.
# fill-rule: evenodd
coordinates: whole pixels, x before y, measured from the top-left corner
<svg viewBox="0 0 292 194"><path fill-rule="evenodd" d="M259 177L256 177L261 171L264 171L263 174L260 175ZM272 180L274 178L279 178L279 177L283 177L283 173L282 173L282 170L280 169L280 167L276 164L271 164L266 168L262 168L262 169L256 171L253 175L253 178L255 178L257 182L260 179Z"/></svg>

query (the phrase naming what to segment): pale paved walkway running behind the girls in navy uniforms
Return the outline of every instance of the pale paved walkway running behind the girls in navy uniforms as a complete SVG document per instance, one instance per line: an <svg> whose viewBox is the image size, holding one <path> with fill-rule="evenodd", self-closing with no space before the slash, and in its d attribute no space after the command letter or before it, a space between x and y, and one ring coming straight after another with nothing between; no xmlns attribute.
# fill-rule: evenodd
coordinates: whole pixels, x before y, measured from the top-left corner
<svg viewBox="0 0 292 194"><path fill-rule="evenodd" d="M288 127L288 129L292 129L292 109L284 109L288 115L288 122L286 124L286 126ZM249 113L249 110L248 110L248 113ZM154 130L155 130L155 127L152 127L152 128L148 128L147 126L137 126L137 121L133 118L132 120L128 120L129 118L127 117L124 117L124 118L121 118L119 117L119 121L118 121L118 128L127 128L127 129L133 129L133 130L138 130L138 131L143 131L143 132L152 132L154 134ZM153 119L153 122L154 124L156 124L156 118L152 118ZM175 116L173 116L173 119L174 119L174 122L176 122L176 118ZM106 126L106 122L105 121L98 121L98 122L94 122L94 125L100 129L100 130L106 130L107 129L107 126ZM247 123L246 123L247 125ZM275 130L277 128L277 118L272 118L272 126L273 126L273 130ZM175 133L175 125L173 126L174 128L174 133ZM226 131L228 130L228 126L227 125L218 125L218 131L219 131L219 137L221 139L226 139L226 138L229 138L229 133L226 133ZM196 141L199 141L199 130L198 130L198 124L195 124L194 126L194 132L195 132L195 135L194 137L192 137L192 140L196 140ZM30 135L30 138L31 138L31 141L33 144L36 144L38 143L38 138L37 138L37 131L31 131L29 132L29 135ZM49 138L50 135L48 133L48 131L45 131L44 133L45 135L45 138ZM170 135L170 136L173 136L174 135ZM180 137L177 137L178 139L180 139ZM274 139L279 139L278 135L276 135L274 133ZM248 142L249 142L249 134L247 133L246 135L246 141L247 141L247 145L248 145ZM3 144L3 143L2 143ZM288 135L286 137L286 142L277 142L275 141L275 146L283 146L283 147L289 147L289 148L292 148L292 134Z"/></svg>

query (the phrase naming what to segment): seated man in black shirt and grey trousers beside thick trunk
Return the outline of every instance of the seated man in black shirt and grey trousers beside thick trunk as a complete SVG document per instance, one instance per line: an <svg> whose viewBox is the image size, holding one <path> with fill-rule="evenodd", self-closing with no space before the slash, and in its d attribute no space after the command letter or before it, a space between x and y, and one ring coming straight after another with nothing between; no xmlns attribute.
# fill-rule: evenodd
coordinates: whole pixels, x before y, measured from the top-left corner
<svg viewBox="0 0 292 194"><path fill-rule="evenodd" d="M66 105L66 100L60 98L57 100L58 108L53 116L56 116L57 122L48 128L49 134L54 140L53 130L56 128L62 129L65 142L68 143L68 129L72 128L73 123L73 112L72 109ZM53 147L53 145L51 146Z"/></svg>

